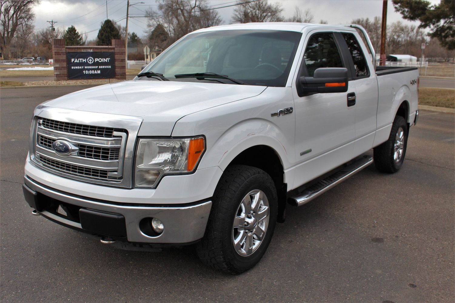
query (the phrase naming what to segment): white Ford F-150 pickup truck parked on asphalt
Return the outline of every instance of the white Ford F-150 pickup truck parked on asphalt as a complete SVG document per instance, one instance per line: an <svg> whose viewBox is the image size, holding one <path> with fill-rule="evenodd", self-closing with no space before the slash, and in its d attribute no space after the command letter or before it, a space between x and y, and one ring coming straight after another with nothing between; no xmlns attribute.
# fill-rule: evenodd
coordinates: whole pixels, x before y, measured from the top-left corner
<svg viewBox="0 0 455 303"><path fill-rule="evenodd" d="M358 25L197 30L132 81L37 106L25 200L103 243L196 243L202 262L241 273L287 203L359 172L371 148L380 172L399 170L417 83L415 68L376 67Z"/></svg>

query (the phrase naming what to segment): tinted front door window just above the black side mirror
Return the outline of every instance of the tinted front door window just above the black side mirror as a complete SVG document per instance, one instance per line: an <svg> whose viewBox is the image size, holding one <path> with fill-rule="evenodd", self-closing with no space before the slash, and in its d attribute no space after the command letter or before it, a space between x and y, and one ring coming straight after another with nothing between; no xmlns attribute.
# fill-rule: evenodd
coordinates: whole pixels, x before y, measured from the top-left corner
<svg viewBox="0 0 455 303"><path fill-rule="evenodd" d="M310 77L313 77L314 71L320 67L344 67L334 37L330 33L311 36L303 59Z"/></svg>

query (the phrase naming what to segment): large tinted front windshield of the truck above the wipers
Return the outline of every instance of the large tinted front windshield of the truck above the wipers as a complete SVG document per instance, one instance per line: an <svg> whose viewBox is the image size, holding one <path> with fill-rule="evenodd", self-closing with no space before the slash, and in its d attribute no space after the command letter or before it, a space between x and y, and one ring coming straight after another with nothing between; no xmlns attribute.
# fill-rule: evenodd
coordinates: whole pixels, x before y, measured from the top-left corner
<svg viewBox="0 0 455 303"><path fill-rule="evenodd" d="M282 30L219 30L191 34L158 56L144 72L153 71L171 81L235 84L210 76L175 77L215 73L250 85L284 86L301 35Z"/></svg>

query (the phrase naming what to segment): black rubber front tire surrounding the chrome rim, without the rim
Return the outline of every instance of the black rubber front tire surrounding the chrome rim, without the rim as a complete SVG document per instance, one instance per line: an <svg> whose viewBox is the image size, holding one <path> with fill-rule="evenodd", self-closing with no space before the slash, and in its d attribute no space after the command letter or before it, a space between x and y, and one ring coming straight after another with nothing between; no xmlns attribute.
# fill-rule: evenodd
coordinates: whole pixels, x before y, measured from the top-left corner
<svg viewBox="0 0 455 303"><path fill-rule="evenodd" d="M243 198L254 190L262 191L267 197L268 226L260 245L254 248L253 253L249 256L241 256L233 243L233 223L234 218L238 216ZM275 229L277 215L277 191L272 178L266 172L246 165L228 167L218 182L212 199L207 229L197 245L199 258L207 266L219 271L230 274L243 273L256 265L267 250Z"/></svg>

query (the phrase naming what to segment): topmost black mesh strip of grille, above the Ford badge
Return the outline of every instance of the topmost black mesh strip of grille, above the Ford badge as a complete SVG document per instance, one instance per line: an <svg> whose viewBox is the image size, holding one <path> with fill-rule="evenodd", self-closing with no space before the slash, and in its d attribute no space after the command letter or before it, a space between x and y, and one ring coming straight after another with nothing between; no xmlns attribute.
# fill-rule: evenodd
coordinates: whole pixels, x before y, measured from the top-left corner
<svg viewBox="0 0 455 303"><path fill-rule="evenodd" d="M70 122L62 122L51 119L42 119L41 125L47 129L53 129L55 131L62 131L70 134L95 136L103 138L113 138L113 132L125 132L126 130L121 128L103 127L103 126L92 126L85 124L77 124Z"/></svg>

